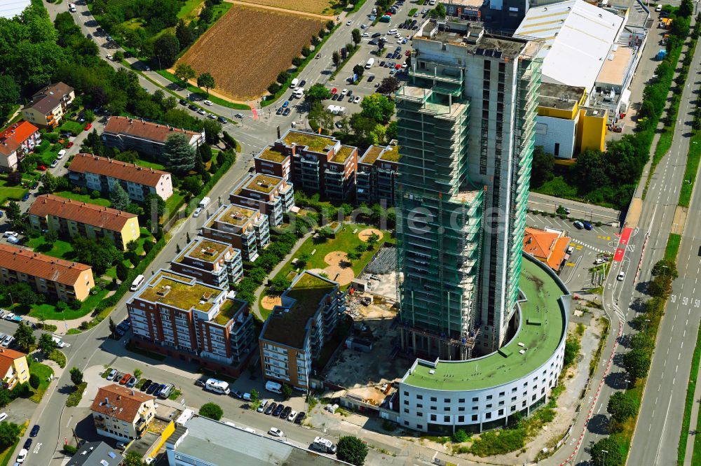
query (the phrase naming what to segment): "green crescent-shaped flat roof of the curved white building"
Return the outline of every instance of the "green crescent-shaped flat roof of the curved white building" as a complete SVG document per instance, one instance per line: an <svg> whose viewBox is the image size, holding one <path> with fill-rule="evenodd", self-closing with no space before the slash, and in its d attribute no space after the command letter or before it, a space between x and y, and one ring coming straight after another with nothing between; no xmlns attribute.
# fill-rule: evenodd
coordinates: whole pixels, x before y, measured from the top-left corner
<svg viewBox="0 0 701 466"><path fill-rule="evenodd" d="M439 360L434 365L417 360L414 371L402 382L433 390L480 390L521 379L545 364L565 337L567 320L558 299L569 295L545 267L525 255L522 258L519 288L526 301L520 302L521 325L508 344L467 361Z"/></svg>

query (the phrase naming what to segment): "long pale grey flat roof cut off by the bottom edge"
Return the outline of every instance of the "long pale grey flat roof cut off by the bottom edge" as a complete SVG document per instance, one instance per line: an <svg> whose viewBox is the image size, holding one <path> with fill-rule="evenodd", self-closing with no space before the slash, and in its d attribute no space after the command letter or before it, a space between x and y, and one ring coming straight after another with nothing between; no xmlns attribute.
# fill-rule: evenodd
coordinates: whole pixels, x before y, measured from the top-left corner
<svg viewBox="0 0 701 466"><path fill-rule="evenodd" d="M193 416L185 423L187 435L182 437L175 451L193 456L212 465L268 466L309 465L327 466L348 464L331 456L302 449L283 440L247 432L242 428ZM233 458L236 460L233 461Z"/></svg>

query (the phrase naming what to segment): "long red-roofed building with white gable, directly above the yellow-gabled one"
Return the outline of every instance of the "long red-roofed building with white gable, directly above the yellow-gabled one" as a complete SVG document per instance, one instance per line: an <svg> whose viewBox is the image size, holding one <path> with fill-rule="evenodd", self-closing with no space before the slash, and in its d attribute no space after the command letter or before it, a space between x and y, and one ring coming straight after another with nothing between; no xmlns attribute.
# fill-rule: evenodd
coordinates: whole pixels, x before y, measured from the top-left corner
<svg viewBox="0 0 701 466"><path fill-rule="evenodd" d="M69 180L89 190L109 193L115 183L120 183L129 199L144 202L154 193L168 199L173 194L173 185L168 171L141 167L107 157L78 154L68 167Z"/></svg>

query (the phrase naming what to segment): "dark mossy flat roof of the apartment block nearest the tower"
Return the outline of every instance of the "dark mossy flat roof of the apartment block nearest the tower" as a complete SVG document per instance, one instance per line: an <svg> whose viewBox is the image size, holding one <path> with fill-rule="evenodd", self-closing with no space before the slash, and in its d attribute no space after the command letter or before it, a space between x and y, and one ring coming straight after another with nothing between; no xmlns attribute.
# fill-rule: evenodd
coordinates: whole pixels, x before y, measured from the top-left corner
<svg viewBox="0 0 701 466"><path fill-rule="evenodd" d="M283 293L283 302L287 297L294 299L294 304L289 307L275 306L266 320L263 338L292 348L302 348L308 320L318 311L322 299L337 286L328 278L303 271Z"/></svg>

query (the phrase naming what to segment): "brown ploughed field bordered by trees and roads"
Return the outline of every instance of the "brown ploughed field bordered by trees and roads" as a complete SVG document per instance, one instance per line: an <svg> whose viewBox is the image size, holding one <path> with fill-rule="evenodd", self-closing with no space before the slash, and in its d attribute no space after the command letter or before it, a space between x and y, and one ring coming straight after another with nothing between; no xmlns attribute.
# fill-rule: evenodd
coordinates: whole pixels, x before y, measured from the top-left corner
<svg viewBox="0 0 701 466"><path fill-rule="evenodd" d="M326 20L269 8L235 4L179 62L212 73L217 92L236 100L266 92L280 71L290 69Z"/></svg>

